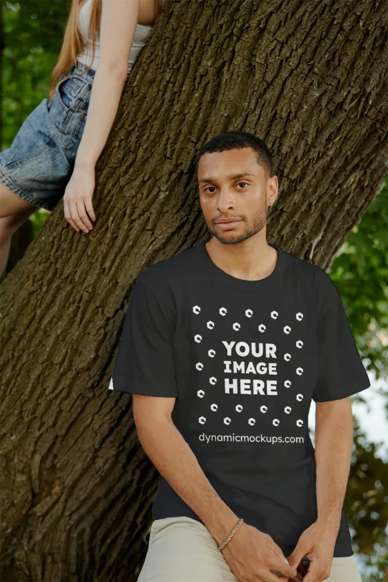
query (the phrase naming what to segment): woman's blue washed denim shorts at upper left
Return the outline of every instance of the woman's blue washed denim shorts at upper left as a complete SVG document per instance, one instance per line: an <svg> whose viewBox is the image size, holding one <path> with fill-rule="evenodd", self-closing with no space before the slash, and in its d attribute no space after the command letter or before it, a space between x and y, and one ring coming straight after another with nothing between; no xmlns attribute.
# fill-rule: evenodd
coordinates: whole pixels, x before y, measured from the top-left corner
<svg viewBox="0 0 388 582"><path fill-rule="evenodd" d="M81 63L62 76L0 152L0 182L30 204L54 210L73 172L94 70Z"/></svg>

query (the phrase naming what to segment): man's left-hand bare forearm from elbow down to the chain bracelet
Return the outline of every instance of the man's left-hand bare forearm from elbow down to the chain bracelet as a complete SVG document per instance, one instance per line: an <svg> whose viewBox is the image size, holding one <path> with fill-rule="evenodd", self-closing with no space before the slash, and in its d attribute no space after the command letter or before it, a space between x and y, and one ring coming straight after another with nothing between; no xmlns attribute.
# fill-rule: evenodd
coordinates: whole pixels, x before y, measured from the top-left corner
<svg viewBox="0 0 388 582"><path fill-rule="evenodd" d="M146 455L221 545L239 516L216 493L173 421L161 415L152 418L152 428L150 424L136 425Z"/></svg>

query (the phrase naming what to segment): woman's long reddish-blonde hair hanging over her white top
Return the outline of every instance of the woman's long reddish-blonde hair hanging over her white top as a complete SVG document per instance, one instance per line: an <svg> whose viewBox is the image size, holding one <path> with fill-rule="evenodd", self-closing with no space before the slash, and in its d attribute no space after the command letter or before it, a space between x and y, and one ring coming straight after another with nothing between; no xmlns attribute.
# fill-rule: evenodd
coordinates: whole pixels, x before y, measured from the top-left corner
<svg viewBox="0 0 388 582"><path fill-rule="evenodd" d="M86 1L87 0L72 0L72 8L70 9L69 20L67 20L62 48L60 49L58 61L56 62L51 74L49 97L52 97L55 86L62 74L66 73L73 65L77 64L77 54L79 54L83 48L83 40L77 23L80 10ZM156 21L162 10L162 0L154 0L154 6ZM99 34L101 8L102 0L92 0L88 29L88 38L92 39L93 47L91 62L93 61L95 54L95 37L96 34Z"/></svg>

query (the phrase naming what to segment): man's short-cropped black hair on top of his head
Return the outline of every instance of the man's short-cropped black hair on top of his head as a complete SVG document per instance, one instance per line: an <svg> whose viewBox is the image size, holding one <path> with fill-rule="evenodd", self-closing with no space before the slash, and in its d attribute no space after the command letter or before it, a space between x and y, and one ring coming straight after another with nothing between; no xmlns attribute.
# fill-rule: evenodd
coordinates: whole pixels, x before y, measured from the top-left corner
<svg viewBox="0 0 388 582"><path fill-rule="evenodd" d="M212 154L216 151L234 150L235 148L250 147L256 154L257 163L264 166L267 178L272 176L272 154L264 141L252 133L232 131L219 133L212 137L198 151L195 157L195 172L198 172L198 162L204 154Z"/></svg>

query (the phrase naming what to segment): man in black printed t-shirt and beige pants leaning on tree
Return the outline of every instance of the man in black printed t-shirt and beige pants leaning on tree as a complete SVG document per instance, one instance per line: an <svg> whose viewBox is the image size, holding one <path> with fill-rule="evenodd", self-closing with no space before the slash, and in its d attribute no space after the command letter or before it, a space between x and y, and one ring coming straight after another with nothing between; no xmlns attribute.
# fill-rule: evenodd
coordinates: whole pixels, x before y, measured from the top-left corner
<svg viewBox="0 0 388 582"><path fill-rule="evenodd" d="M342 503L370 383L340 294L266 242L262 140L214 137L197 174L211 239L137 279L109 386L161 473L138 582L361 582Z"/></svg>

